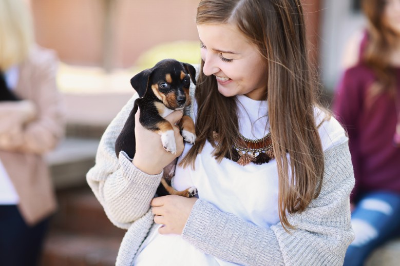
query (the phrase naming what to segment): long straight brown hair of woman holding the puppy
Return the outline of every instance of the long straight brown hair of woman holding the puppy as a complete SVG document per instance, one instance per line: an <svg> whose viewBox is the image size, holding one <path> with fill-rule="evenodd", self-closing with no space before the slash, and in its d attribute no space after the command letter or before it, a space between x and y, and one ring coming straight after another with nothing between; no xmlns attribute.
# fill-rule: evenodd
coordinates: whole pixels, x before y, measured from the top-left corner
<svg viewBox="0 0 400 266"><path fill-rule="evenodd" d="M196 23L236 25L265 59L279 217L285 229L292 228L286 211L306 209L319 194L323 176L323 151L314 119L317 83L309 66L300 0L202 0ZM202 61L195 93L198 138L183 166L193 166L206 140L213 145L215 158L222 160L239 135L235 97L222 96L215 77L203 74L203 65Z"/></svg>

